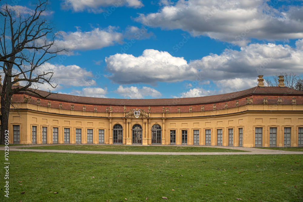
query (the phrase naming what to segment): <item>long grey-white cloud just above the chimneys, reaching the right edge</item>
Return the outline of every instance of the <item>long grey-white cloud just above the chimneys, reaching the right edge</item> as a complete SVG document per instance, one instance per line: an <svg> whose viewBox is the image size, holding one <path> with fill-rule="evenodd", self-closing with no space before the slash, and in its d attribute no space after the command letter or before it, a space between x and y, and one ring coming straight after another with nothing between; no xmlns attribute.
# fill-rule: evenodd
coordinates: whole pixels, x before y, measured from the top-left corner
<svg viewBox="0 0 303 202"><path fill-rule="evenodd" d="M220 55L212 54L194 60L189 66L200 69L205 79L220 81L235 78L255 78L262 74L293 71L303 74L303 51L289 45L250 44L240 51L225 49Z"/></svg>

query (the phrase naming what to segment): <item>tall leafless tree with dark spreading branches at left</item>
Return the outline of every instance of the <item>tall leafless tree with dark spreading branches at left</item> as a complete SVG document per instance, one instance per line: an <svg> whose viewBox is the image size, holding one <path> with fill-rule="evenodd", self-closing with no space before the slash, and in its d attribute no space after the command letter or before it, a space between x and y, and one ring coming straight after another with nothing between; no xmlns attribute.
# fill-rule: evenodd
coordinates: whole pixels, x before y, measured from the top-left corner
<svg viewBox="0 0 303 202"><path fill-rule="evenodd" d="M20 91L30 91L45 97L35 91L39 84L56 87L53 72L43 70L42 65L63 51L54 44L58 32L45 18L49 1L38 0L33 6L33 10L24 12L18 6L0 5L0 65L4 73L3 85L0 85L0 144L5 143L12 96Z"/></svg>

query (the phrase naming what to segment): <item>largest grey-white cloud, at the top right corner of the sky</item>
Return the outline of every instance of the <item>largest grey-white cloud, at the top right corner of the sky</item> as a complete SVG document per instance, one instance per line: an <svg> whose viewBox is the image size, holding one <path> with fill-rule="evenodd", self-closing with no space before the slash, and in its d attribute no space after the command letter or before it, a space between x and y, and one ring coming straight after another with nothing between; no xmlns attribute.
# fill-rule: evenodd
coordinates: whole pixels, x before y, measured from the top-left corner
<svg viewBox="0 0 303 202"><path fill-rule="evenodd" d="M156 13L140 14L136 20L245 46L251 38L303 38L302 13L300 6L275 9L268 0L179 0L164 4Z"/></svg>

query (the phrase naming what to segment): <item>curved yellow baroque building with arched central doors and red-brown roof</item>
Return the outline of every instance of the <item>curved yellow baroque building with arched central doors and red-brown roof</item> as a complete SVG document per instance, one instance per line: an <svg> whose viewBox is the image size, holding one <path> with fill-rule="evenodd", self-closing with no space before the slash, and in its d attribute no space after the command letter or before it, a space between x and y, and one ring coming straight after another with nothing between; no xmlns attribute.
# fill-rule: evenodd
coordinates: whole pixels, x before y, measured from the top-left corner
<svg viewBox="0 0 303 202"><path fill-rule="evenodd" d="M264 87L262 76L258 81L244 91L196 98L20 92L12 98L9 143L302 147L303 92L284 87L283 77L278 87Z"/></svg>

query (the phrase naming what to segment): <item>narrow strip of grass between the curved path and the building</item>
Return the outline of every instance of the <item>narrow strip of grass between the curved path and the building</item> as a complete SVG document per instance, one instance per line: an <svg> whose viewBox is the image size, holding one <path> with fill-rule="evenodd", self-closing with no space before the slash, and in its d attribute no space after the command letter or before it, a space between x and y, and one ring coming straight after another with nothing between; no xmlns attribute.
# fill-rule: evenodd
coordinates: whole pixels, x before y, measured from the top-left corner
<svg viewBox="0 0 303 202"><path fill-rule="evenodd" d="M56 145L22 147L21 149L55 149L77 151L146 151L146 152L245 152L215 147L134 146L134 145Z"/></svg>

